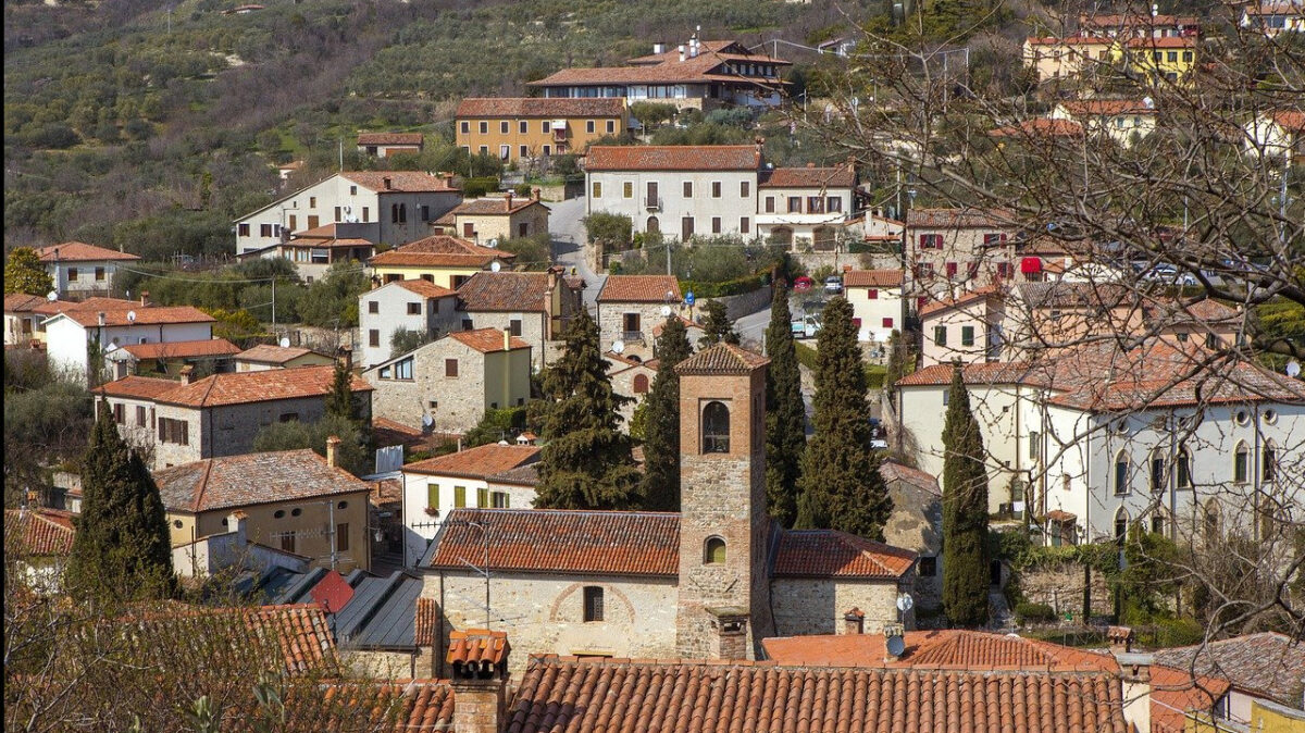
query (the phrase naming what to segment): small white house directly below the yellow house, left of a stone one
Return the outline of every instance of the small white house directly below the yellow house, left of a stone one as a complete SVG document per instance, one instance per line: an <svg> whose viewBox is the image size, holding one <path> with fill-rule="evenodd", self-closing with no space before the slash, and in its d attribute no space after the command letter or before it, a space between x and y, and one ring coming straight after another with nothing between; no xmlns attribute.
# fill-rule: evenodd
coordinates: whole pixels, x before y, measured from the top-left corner
<svg viewBox="0 0 1305 733"><path fill-rule="evenodd" d="M358 296L361 366L375 366L392 356L394 331L407 329L428 340L457 329L457 291L428 280L392 280Z"/></svg>

